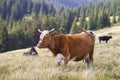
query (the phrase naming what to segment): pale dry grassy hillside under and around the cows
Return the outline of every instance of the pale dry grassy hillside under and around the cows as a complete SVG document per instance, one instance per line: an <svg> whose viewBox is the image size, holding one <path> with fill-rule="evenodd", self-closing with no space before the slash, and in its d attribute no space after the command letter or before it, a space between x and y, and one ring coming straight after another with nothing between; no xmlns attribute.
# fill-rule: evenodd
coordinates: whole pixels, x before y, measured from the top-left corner
<svg viewBox="0 0 120 80"><path fill-rule="evenodd" d="M23 56L29 49L0 54L0 80L120 80L120 26L95 31L93 71L85 70L83 61L70 61L66 71L56 68L56 61L46 49L37 49L38 57ZM112 35L108 44L99 44L98 36Z"/></svg>

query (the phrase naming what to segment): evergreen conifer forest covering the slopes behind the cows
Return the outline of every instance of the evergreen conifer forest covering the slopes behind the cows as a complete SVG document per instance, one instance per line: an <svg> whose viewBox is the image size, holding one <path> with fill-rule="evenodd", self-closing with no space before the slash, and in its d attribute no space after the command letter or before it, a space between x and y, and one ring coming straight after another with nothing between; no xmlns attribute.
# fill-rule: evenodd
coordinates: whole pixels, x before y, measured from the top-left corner
<svg viewBox="0 0 120 80"><path fill-rule="evenodd" d="M79 24L77 26L76 24ZM0 52L35 46L37 29L74 34L120 25L119 0L89 2L67 8L44 0L0 0Z"/></svg>

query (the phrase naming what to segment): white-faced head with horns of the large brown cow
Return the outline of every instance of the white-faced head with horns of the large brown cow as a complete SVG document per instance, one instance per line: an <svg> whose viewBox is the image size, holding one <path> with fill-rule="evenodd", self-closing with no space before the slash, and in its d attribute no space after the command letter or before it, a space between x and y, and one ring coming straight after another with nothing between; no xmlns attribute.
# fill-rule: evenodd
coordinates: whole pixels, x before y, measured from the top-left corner
<svg viewBox="0 0 120 80"><path fill-rule="evenodd" d="M51 29L50 31L48 30L43 30L41 31L38 29L40 32L40 37L39 37L39 42L37 44L38 48L47 48L52 44L53 37L57 33L55 29Z"/></svg>

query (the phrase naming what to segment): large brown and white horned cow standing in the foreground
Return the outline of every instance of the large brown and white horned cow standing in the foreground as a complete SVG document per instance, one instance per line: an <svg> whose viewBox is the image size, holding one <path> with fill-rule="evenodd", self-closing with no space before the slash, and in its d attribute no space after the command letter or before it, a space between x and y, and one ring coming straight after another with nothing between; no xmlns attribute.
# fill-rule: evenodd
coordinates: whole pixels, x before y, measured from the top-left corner
<svg viewBox="0 0 120 80"><path fill-rule="evenodd" d="M69 60L85 60L87 68L92 68L95 44L95 33L93 31L74 35L58 34L55 29L50 31L38 29L38 31L40 37L37 47L50 49L59 66L61 66L62 60L64 60L64 66L67 66Z"/></svg>

